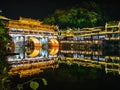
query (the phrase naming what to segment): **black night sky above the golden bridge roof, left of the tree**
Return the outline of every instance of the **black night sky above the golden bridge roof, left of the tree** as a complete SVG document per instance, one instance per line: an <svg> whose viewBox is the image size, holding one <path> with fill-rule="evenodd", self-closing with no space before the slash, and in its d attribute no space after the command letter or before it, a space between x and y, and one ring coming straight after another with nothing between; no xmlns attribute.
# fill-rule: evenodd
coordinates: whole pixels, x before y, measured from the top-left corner
<svg viewBox="0 0 120 90"><path fill-rule="evenodd" d="M44 18L54 12L55 9L66 8L80 0L2 0L0 10L12 19L19 16L31 18Z"/></svg>

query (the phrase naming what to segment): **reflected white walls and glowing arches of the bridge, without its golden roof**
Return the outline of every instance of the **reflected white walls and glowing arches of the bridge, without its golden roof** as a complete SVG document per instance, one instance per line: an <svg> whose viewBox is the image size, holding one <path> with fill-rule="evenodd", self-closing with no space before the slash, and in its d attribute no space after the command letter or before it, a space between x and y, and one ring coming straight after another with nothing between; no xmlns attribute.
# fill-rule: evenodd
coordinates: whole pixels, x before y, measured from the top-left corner
<svg viewBox="0 0 120 90"><path fill-rule="evenodd" d="M53 58L57 57L57 53L59 51L59 47L50 47L48 48L41 48L41 47L16 47L14 53L16 55L9 56L8 61L22 61L24 59L42 59L42 58Z"/></svg>

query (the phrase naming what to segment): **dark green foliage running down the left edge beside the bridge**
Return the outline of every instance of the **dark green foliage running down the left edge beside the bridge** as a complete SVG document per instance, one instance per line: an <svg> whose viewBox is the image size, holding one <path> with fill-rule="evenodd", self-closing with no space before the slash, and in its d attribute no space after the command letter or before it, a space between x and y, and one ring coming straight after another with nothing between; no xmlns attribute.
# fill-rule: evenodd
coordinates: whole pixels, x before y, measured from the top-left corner
<svg viewBox="0 0 120 90"><path fill-rule="evenodd" d="M9 35L7 28L4 26L4 20L0 19L0 89L8 88L6 84L10 82L8 80L9 64L7 61L7 43L9 41Z"/></svg>

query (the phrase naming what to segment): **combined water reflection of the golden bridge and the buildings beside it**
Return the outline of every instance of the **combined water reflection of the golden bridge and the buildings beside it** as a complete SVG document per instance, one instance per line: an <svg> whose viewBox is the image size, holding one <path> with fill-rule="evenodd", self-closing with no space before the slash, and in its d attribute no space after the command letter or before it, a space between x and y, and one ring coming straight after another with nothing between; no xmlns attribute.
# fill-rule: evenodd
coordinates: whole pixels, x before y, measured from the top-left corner
<svg viewBox="0 0 120 90"><path fill-rule="evenodd" d="M32 44L31 44L32 45ZM113 52L113 51L112 51ZM15 48L15 53L8 58L12 68L10 75L19 74L20 77L43 72L46 68L58 68L59 63L78 64L85 67L105 68L106 73L120 74L119 54L110 55L103 50L64 50L59 47L26 47ZM59 57L59 58L58 58ZM59 60L58 60L59 59Z"/></svg>

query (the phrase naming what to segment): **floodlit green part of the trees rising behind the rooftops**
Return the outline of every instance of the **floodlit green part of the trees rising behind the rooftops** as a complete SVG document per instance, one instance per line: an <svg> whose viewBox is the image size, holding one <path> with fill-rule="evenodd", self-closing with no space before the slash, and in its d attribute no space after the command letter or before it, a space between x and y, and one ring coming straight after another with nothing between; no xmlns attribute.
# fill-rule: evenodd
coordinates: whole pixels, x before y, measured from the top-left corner
<svg viewBox="0 0 120 90"><path fill-rule="evenodd" d="M85 8L71 8L69 10L56 10L43 22L57 24L60 28L83 28L96 26L100 21L102 21L102 16L97 12Z"/></svg>

